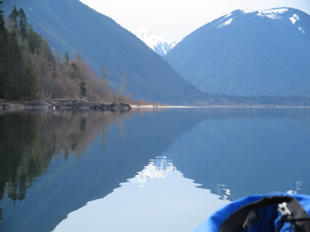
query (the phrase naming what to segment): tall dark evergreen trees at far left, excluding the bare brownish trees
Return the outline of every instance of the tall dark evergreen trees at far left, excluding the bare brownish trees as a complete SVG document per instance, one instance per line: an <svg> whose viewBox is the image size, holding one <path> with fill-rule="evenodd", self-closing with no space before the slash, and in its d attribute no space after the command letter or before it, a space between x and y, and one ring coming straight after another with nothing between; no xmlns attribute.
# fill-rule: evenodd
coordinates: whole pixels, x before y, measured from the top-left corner
<svg viewBox="0 0 310 232"><path fill-rule="evenodd" d="M39 92L35 63L42 49L50 52L50 57L45 54L45 58L52 57L51 51L46 41L29 27L22 8L17 11L14 7L8 27L2 13L0 11L0 98L36 99Z"/></svg>

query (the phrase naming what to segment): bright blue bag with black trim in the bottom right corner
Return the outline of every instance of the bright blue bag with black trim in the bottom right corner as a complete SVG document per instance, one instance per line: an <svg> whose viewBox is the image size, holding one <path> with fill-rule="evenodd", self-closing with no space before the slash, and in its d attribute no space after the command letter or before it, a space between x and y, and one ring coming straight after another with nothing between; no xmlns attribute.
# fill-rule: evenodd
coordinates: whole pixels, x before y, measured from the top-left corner
<svg viewBox="0 0 310 232"><path fill-rule="evenodd" d="M213 213L194 232L310 232L310 196L253 195Z"/></svg>

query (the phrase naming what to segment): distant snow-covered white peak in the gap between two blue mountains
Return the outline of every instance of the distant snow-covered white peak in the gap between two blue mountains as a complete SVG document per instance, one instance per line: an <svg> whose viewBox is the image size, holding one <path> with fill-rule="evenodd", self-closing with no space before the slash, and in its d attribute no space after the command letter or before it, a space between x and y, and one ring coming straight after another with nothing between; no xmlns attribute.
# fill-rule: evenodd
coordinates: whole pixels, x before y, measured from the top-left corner
<svg viewBox="0 0 310 232"><path fill-rule="evenodd" d="M149 29L144 27L139 27L132 33L161 56L166 55L176 45L175 41L165 35L159 32L153 34Z"/></svg>

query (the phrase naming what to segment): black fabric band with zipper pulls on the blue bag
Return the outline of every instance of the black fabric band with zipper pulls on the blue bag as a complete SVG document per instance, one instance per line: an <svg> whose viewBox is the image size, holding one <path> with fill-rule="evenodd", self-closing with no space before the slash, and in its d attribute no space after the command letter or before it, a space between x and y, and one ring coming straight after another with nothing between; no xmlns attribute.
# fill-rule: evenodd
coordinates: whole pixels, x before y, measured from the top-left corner
<svg viewBox="0 0 310 232"><path fill-rule="evenodd" d="M241 232L246 230L249 231L252 223L254 223L259 217L259 215L256 213L257 210L267 206L274 207L274 213L273 215L268 215L268 217L270 216L271 218L266 219L265 223L273 222L278 217L278 204L283 202L287 203L287 208L290 210L290 212L292 212L291 217L289 217L288 219L293 220L287 221L290 221L293 230L295 232L310 232L310 217L308 213L304 211L298 200L291 196L264 197L255 202L246 204L241 208L237 209L230 216L228 216L228 218L222 223L219 232ZM309 220L299 221L300 218L307 218ZM272 228L273 231L275 231L273 228L273 223L269 226Z"/></svg>

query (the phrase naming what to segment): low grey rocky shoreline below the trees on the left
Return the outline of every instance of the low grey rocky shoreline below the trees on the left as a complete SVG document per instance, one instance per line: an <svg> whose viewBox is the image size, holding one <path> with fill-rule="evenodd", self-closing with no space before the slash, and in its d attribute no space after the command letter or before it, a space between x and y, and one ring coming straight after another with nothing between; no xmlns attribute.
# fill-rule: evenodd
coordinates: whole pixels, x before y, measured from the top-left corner
<svg viewBox="0 0 310 232"><path fill-rule="evenodd" d="M29 102L0 102L0 109L10 108L51 108L51 109L109 109L130 110L131 106L126 103L93 102L86 99L56 99Z"/></svg>

